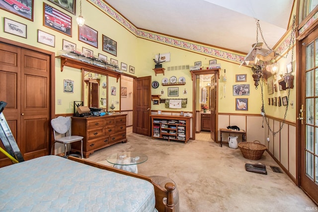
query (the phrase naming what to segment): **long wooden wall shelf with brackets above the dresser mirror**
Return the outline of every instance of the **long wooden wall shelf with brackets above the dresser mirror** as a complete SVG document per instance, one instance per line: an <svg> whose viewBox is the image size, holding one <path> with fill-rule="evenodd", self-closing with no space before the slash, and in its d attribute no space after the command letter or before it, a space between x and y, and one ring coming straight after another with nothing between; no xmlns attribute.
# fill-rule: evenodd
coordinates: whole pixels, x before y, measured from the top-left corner
<svg viewBox="0 0 318 212"><path fill-rule="evenodd" d="M68 57L64 57L64 56L57 56L56 58L61 59L61 71L63 71L64 66L72 67L75 69L83 69L85 71L93 71L96 73L115 77L117 79L117 82L118 82L118 79L121 75L120 72L112 71L110 69L105 69L102 67L98 67L98 66L95 66L92 64L88 64L88 63L76 60L76 59L72 59L72 58L68 58Z"/></svg>

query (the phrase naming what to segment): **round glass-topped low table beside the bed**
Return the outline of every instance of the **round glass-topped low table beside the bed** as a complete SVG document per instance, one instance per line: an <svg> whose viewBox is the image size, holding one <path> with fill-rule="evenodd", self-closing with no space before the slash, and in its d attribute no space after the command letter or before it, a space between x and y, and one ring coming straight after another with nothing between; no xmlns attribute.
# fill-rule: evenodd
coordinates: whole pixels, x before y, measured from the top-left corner
<svg viewBox="0 0 318 212"><path fill-rule="evenodd" d="M114 164L115 168L138 173L137 164L146 162L148 156L141 152L120 152L108 155L107 162Z"/></svg>

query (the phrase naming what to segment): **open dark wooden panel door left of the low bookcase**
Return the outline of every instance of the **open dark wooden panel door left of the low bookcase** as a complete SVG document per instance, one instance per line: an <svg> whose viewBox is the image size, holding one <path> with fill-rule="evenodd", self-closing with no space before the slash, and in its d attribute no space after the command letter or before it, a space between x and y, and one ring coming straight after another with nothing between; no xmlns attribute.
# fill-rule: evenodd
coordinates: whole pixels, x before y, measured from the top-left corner
<svg viewBox="0 0 318 212"><path fill-rule="evenodd" d="M151 136L151 76L139 77L134 83L133 132Z"/></svg>

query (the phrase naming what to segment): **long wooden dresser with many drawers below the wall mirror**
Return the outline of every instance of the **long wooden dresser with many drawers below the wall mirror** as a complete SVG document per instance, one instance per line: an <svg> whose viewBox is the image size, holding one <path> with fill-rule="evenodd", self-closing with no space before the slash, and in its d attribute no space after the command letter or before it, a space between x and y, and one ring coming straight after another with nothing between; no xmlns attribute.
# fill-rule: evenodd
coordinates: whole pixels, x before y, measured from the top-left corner
<svg viewBox="0 0 318 212"><path fill-rule="evenodd" d="M97 117L72 117L72 135L82 136L83 156L88 158L95 150L126 139L127 114L113 114ZM80 144L72 143L72 150L80 151Z"/></svg>

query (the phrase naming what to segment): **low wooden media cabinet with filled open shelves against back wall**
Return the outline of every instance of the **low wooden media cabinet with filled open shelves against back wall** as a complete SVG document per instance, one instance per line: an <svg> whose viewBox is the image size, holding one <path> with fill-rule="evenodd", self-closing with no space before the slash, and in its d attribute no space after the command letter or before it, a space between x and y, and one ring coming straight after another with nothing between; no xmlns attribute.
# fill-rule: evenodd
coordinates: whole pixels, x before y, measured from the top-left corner
<svg viewBox="0 0 318 212"><path fill-rule="evenodd" d="M185 116L151 115L152 138L184 141L190 139L190 119Z"/></svg>

